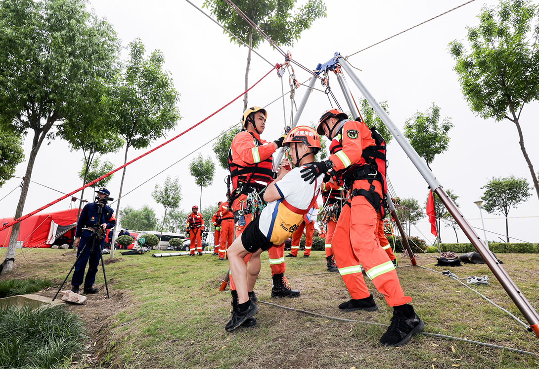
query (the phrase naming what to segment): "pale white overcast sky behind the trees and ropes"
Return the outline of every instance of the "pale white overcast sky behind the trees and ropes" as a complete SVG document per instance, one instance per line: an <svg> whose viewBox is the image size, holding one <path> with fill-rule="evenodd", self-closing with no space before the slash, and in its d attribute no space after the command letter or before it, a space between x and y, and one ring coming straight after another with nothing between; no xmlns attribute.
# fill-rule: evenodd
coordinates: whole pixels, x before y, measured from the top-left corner
<svg viewBox="0 0 539 369"><path fill-rule="evenodd" d="M197 6L202 1L195 0ZM324 63L336 51L350 55L360 49L400 32L412 25L441 14L464 1L326 1L327 18L314 22L312 28L304 32L290 50L293 58L301 64L314 69ZM160 49L165 56L165 68L171 73L176 89L181 93L178 103L182 119L176 129L167 134L173 137L210 113L221 108L233 97L244 91L244 75L247 49L229 42L229 37L197 9L184 1L109 1L91 0L96 14L105 17L113 25L122 44L134 38L141 38L148 51ZM378 101L387 100L393 121L402 129L405 120L416 111L425 111L432 103L441 108L442 117L451 117L454 128L450 131L450 148L436 157L431 164L434 175L445 189L453 190L458 196L461 211L473 226L481 226L479 209L473 203L482 195L481 186L493 176L515 175L525 177L531 184L528 166L519 147L519 138L513 123L508 120L495 122L475 116L462 96L457 74L453 71L454 61L448 53L448 43L454 39L465 39L466 26L478 23L476 16L483 5L493 6L497 1L475 1L447 15L434 19L403 35L392 38L369 50L350 57L349 62L361 69L356 71L358 78L367 86ZM207 11L207 10L205 10ZM268 44L262 44L259 52L268 61L283 63L284 58ZM125 56L126 53L124 52ZM250 82L253 83L271 68L265 61L253 54ZM300 82L309 78L307 72L295 67ZM289 91L285 75L284 88ZM356 97L360 93L348 79ZM330 79L337 99L345 105L335 78ZM321 88L316 83L317 88ZM299 104L306 88L296 90L295 100ZM249 105L265 106L281 95L281 80L272 72L249 93ZM268 106L266 130L262 138L274 140L280 136L285 125L284 115L289 119L291 99L285 97L286 112L282 100ZM301 117L301 124L317 122L321 113L330 108L328 98L315 91L307 103ZM346 109L346 108L344 108ZM144 182L149 176L161 171L179 158L195 150L198 146L217 136L223 129L238 122L243 111L243 102L230 105L205 123L190 131L174 142L164 146L151 155L127 168L123 192L126 193ZM527 105L522 111L521 125L528 155L539 169L539 103ZM286 122L288 123L288 122ZM152 144L155 147L165 138ZM149 148L148 148L149 149ZM30 151L30 140L25 140L26 156ZM129 158L134 158L146 150L130 150ZM213 157L211 144L201 150L205 157ZM151 180L136 191L122 198L122 206L140 207L148 204L162 216L162 206L151 197L155 183L163 183L166 176L178 176L182 185L183 209L198 204L199 187L189 173L189 162L198 151L182 160L167 172ZM70 151L69 146L54 140L43 145L38 153L32 173L32 180L54 187L62 192L70 192L81 185L77 172L80 170L82 152ZM123 151L107 155L106 158L116 166L123 164ZM427 196L427 184L406 157L398 143L393 140L388 147L389 178L399 197L416 198L421 205ZM22 177L26 162L20 164L16 176ZM227 172L218 167L213 185L203 191L202 203L214 204L224 199L224 178ZM108 188L111 196L116 197L120 187L121 172L116 173ZM0 198L8 194L20 183L20 179L9 180L0 189ZM2 200L0 217L15 213L20 191L16 190ZM88 191L86 192L86 198ZM37 209L59 197L54 192L36 184L30 185L24 213ZM539 216L536 195L527 203L509 213L509 234L527 241L539 241L536 225ZM65 199L48 210L67 209L70 200ZM114 206L115 209L115 206ZM483 212L485 218L500 218ZM512 218L521 217L521 218ZM528 217L528 218L522 218ZM486 229L505 234L505 220L485 219ZM432 242L426 222L412 227L412 235L426 238ZM421 232L423 235L421 235ZM478 232L483 237L482 231ZM451 228L443 228L442 240L455 241ZM499 240L499 236L488 234L489 240ZM505 239L505 237L500 236ZM459 240L465 240L462 232Z"/></svg>

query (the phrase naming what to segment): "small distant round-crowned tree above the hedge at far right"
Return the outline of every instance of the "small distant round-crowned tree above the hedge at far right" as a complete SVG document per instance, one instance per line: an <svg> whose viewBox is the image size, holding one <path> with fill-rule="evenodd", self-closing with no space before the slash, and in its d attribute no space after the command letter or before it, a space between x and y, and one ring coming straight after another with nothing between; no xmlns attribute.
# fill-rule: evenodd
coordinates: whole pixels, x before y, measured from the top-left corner
<svg viewBox="0 0 539 369"><path fill-rule="evenodd" d="M526 178L514 176L505 178L493 177L486 185L481 187L485 193L481 196L483 209L488 213L503 214L506 218L506 241L509 242L508 215L511 207L517 207L531 196L532 187Z"/></svg>

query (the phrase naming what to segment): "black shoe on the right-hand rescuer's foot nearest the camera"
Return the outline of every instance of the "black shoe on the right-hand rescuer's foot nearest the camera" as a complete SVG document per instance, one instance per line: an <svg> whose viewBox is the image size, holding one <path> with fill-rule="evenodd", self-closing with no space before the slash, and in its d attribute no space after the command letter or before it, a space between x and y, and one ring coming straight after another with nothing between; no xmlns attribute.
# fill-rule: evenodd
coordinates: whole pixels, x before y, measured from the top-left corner
<svg viewBox="0 0 539 369"><path fill-rule="evenodd" d="M380 339L380 343L384 346L402 346L407 343L414 334L423 331L425 324L416 312L413 311L412 305L399 305L393 307L393 317L388 330Z"/></svg>

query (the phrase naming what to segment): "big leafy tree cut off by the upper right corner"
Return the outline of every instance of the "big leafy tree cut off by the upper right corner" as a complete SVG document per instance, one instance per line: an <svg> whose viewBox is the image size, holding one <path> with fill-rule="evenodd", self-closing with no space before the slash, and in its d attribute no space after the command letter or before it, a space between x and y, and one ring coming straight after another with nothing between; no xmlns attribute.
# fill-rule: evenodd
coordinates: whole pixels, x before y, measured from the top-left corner
<svg viewBox="0 0 539 369"><path fill-rule="evenodd" d="M522 155L528 164L537 198L539 183L524 147L520 114L524 105L539 99L539 22L537 5L527 0L502 1L497 9L483 8L479 25L468 27L468 52L453 41L462 93L472 111L483 119L513 122ZM535 24L535 25L533 25ZM505 135L501 131L502 135Z"/></svg>

